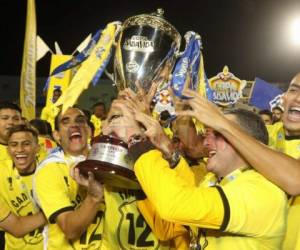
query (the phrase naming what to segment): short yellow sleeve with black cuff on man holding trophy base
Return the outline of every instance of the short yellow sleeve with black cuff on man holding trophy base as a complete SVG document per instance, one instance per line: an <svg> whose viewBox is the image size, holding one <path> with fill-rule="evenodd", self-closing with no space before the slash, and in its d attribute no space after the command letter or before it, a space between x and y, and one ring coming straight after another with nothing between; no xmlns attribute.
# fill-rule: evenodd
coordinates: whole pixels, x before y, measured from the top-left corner
<svg viewBox="0 0 300 250"><path fill-rule="evenodd" d="M57 215L74 209L68 196L68 183L62 168L65 163L48 163L34 176L35 198L50 223Z"/></svg>

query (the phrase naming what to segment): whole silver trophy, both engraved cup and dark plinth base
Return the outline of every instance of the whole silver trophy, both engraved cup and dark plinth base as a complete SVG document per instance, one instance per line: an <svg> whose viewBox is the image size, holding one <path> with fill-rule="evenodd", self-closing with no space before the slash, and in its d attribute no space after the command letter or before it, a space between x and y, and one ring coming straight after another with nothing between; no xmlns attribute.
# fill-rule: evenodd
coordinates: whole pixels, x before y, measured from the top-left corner
<svg viewBox="0 0 300 250"><path fill-rule="evenodd" d="M128 18L122 25L114 56L113 80L118 90L147 93L152 81L166 82L179 51L181 36L158 9L152 14ZM167 71L167 72L166 72ZM163 72L163 74L162 74ZM165 79L161 79L162 75ZM93 172L99 181L118 188L140 189L127 157L127 145L113 136L96 138L86 161L77 165L80 173Z"/></svg>

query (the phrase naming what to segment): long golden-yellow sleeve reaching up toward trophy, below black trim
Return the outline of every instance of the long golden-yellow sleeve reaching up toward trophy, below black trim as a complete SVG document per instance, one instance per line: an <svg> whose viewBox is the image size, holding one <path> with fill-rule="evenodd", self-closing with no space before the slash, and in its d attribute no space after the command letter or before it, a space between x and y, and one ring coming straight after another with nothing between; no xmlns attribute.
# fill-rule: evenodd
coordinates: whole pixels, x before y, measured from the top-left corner
<svg viewBox="0 0 300 250"><path fill-rule="evenodd" d="M153 164L155 162L155 164ZM190 226L219 229L229 209L221 188L190 185L170 169L158 150L135 162L135 174L160 217ZM221 195L222 194L222 195ZM227 204L227 203L226 203Z"/></svg>

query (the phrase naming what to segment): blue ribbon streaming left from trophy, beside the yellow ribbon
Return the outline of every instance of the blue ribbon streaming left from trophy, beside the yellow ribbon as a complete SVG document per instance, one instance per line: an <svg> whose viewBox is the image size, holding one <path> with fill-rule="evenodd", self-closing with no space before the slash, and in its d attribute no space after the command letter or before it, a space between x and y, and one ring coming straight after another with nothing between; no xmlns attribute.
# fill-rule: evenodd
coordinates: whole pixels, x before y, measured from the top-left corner
<svg viewBox="0 0 300 250"><path fill-rule="evenodd" d="M102 29L100 29L96 32L96 34L92 37L92 39L90 40L88 45L84 48L84 50L81 53L79 53L72 59L68 60L67 62L56 67L53 70L53 72L51 73L51 75L47 78L47 81L46 81L46 84L45 84L45 87L43 90L46 91L48 89L50 78L52 76L60 74L61 72L64 72L68 69L72 69L72 68L76 67L77 65L81 64L83 61L85 61L89 57L89 55L90 55L91 51L93 50L93 48L95 47L95 45L98 43L98 41L101 37L101 34L102 34ZM100 77L100 75L99 75L99 77ZM97 78L97 80L99 79L99 77ZM94 81L93 81L93 83L94 83Z"/></svg>

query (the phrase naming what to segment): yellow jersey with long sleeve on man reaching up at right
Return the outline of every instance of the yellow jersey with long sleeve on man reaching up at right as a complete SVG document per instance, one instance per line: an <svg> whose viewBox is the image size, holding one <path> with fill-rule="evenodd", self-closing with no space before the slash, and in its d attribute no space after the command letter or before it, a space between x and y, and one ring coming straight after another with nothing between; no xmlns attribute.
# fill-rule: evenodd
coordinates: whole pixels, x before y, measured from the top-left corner
<svg viewBox="0 0 300 250"><path fill-rule="evenodd" d="M281 248L287 198L256 171L236 170L220 183L209 173L197 187L170 169L157 150L140 156L134 170L159 215L200 229L206 250Z"/></svg>

